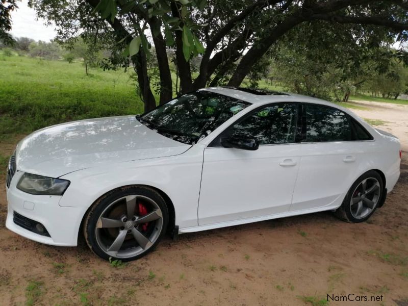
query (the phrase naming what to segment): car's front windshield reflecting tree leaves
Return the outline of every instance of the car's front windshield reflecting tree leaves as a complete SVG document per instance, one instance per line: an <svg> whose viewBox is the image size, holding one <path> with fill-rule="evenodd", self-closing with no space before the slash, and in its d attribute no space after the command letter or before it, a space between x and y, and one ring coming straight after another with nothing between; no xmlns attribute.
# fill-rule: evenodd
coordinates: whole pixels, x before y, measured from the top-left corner
<svg viewBox="0 0 408 306"><path fill-rule="evenodd" d="M166 137L194 144L249 105L233 97L199 90L177 97L138 119Z"/></svg>

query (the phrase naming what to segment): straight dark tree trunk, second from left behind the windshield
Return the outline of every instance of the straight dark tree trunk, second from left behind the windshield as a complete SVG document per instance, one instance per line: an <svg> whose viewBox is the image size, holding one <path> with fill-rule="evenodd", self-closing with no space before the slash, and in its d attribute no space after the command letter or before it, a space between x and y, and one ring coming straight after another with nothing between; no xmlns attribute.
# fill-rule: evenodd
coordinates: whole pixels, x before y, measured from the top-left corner
<svg viewBox="0 0 408 306"><path fill-rule="evenodd" d="M173 83L171 81L170 66L166 52L166 42L163 39L160 31L161 22L158 18L152 17L149 20L151 29L155 29L156 36L153 36L153 42L156 49L156 57L159 64L160 74L160 104L164 104L173 97Z"/></svg>

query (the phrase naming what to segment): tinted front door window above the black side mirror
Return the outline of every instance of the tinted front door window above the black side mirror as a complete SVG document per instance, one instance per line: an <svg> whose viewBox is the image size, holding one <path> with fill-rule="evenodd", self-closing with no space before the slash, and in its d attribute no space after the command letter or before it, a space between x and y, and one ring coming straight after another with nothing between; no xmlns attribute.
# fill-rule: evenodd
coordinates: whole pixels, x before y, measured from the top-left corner
<svg viewBox="0 0 408 306"><path fill-rule="evenodd" d="M292 143L296 136L297 104L273 104L234 124L231 134L255 137L259 144Z"/></svg>

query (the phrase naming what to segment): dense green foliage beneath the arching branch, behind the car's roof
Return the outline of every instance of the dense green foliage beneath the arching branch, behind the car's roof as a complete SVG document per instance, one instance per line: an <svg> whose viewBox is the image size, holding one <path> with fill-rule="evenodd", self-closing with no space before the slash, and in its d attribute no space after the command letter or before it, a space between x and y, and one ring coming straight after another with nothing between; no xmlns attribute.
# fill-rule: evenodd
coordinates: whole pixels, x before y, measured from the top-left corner
<svg viewBox="0 0 408 306"><path fill-rule="evenodd" d="M270 73L289 91L347 101L372 75L390 72L399 57L393 42L385 29L304 22L272 48Z"/></svg>

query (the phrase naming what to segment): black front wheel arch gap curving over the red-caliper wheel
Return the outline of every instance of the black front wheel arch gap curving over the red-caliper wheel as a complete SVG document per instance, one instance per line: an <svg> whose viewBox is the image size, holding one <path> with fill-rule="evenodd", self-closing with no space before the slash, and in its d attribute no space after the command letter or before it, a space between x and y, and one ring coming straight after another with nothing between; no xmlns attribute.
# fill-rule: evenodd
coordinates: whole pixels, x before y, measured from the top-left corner
<svg viewBox="0 0 408 306"><path fill-rule="evenodd" d="M92 202L92 204L88 207L85 214L82 216L81 224L80 224L80 227L79 227L79 230L78 230L78 238L77 238L78 245L82 244L82 240L85 240L84 239L84 234L81 234L81 233L83 233L86 216L88 215L88 213L92 209L92 207L95 205L95 203L98 202L101 198L103 198L103 197L107 196L108 194L110 194L112 192L115 192L115 191L117 191L119 189L124 189L124 188L129 188L129 187L136 187L136 186L137 187L150 188L150 189L158 192L163 197L163 199L164 199L164 201L166 203L167 209L168 209L168 213L169 213L169 222L167 224L166 231L167 231L167 233L171 233L174 230L174 227L175 227L175 210L174 210L173 202L170 199L170 197L167 195L167 193L165 193L163 190L161 190L161 189L159 189L157 187L150 186L150 185L144 185L144 184L125 185L125 186L114 188L114 189L112 189L112 190L110 190L108 192L105 192L103 195L99 196L96 200L94 200Z"/></svg>

